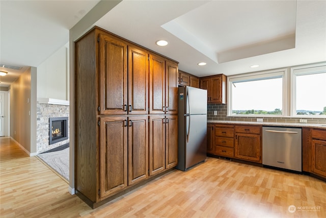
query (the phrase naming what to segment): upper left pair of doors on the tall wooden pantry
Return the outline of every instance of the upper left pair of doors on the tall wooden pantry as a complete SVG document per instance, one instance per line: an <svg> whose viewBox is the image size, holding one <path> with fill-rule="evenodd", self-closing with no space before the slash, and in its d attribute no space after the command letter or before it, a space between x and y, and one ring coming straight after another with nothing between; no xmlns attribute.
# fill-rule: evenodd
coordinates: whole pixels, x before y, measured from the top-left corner
<svg viewBox="0 0 326 218"><path fill-rule="evenodd" d="M100 114L148 113L148 52L103 34L99 51Z"/></svg>

